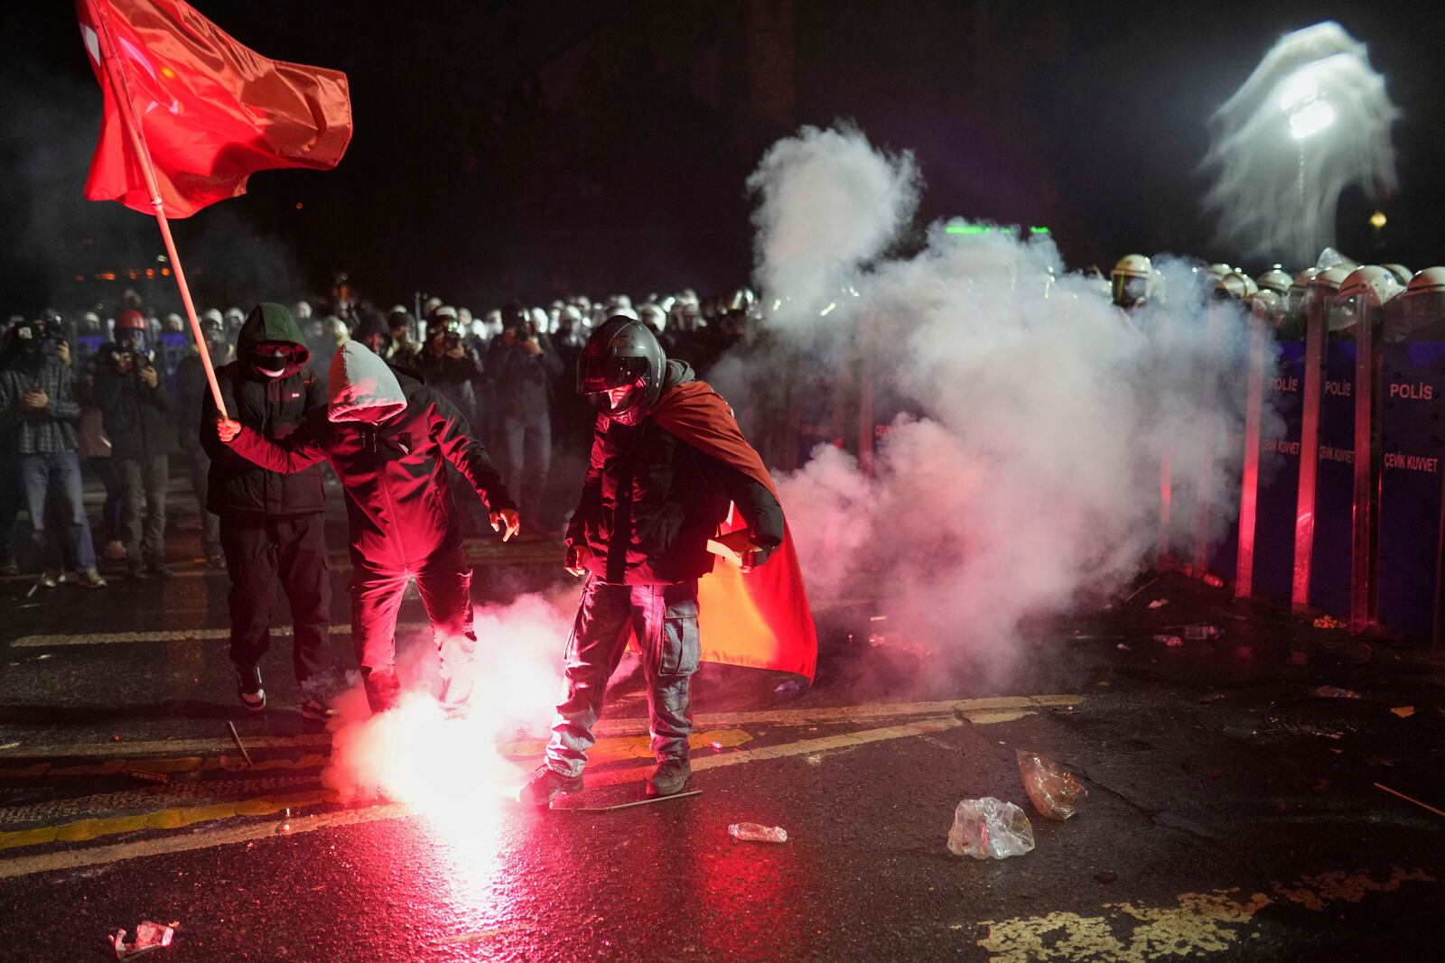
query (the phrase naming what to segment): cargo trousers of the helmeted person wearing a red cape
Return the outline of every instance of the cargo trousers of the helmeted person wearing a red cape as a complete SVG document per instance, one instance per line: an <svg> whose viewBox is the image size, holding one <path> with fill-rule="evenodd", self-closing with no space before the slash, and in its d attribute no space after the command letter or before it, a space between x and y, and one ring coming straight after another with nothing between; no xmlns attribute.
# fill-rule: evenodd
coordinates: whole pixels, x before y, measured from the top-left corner
<svg viewBox="0 0 1445 963"><path fill-rule="evenodd" d="M702 654L696 579L670 585L611 585L590 576L566 642L562 703L556 707L546 748L548 765L562 775L581 775L587 765L607 680L631 635L642 648L647 680L652 752L657 761L688 758L691 677Z"/></svg>

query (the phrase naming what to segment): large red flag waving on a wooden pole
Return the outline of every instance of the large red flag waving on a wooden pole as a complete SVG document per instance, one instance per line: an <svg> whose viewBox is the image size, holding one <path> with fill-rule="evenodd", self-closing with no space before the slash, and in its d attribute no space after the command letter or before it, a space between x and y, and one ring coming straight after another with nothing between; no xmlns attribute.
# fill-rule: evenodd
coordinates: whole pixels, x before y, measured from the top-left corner
<svg viewBox="0 0 1445 963"><path fill-rule="evenodd" d="M155 212L126 131L127 100L172 218L246 193L256 170L328 170L345 153L351 97L341 71L267 59L182 0L77 0L75 9L105 105L85 182L91 201Z"/></svg>

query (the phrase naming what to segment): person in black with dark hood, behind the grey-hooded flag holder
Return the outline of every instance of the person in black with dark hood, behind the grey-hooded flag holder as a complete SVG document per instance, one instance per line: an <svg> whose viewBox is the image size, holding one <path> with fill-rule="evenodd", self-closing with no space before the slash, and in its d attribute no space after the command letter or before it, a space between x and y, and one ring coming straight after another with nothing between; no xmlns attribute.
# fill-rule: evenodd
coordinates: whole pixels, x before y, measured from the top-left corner
<svg viewBox="0 0 1445 963"><path fill-rule="evenodd" d="M241 325L236 354L236 361L215 371L215 380L227 414L241 424L283 439L311 411L327 406L325 385L303 367L311 352L285 306L257 305ZM279 579L295 625L302 718L325 720L331 578L321 466L293 475L266 471L217 437L218 413L210 391L199 411L201 446L211 456L207 507L221 518L221 549L231 576L231 661L241 703L251 712L266 707L257 664L270 647Z"/></svg>

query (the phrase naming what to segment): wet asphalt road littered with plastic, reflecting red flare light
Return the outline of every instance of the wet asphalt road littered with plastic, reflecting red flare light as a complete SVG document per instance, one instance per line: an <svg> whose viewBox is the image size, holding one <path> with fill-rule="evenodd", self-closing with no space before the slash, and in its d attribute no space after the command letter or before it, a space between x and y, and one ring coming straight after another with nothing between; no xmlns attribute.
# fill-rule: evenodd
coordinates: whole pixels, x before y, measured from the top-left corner
<svg viewBox="0 0 1445 963"><path fill-rule="evenodd" d="M173 552L186 556L184 528ZM475 543L478 603L553 583L551 546L507 552ZM1004 677L949 679L899 640L868 644L873 612L844 605L821 614L811 690L701 673L701 796L419 814L324 796L328 738L293 712L289 640L264 664L275 707L240 718L224 632L179 637L224 628L225 578L182 567L105 593L4 586L0 959L104 959L107 933L144 918L179 923L150 957L172 963L1436 954L1445 817L1376 787L1445 809L1445 673L1428 653L1166 576L1039 627ZM420 621L415 602L402 621ZM1224 635L1152 641L1183 622ZM332 641L347 661L345 634ZM1322 684L1361 697L1319 697ZM608 752L568 806L640 797L639 715L624 663ZM506 751L526 767L536 748ZM1077 817L1033 811L1019 748L1079 775ZM1025 807L1032 853L945 849L954 806L981 796ZM790 840L733 842L740 820Z"/></svg>

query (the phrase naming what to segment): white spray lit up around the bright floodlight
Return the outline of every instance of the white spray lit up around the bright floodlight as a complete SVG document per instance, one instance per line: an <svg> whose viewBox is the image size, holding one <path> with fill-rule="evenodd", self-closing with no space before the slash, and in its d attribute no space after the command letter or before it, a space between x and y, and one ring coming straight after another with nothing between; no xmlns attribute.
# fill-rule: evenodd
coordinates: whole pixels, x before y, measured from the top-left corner
<svg viewBox="0 0 1445 963"><path fill-rule="evenodd" d="M1205 206L1220 241L1244 257L1314 263L1335 241L1345 188L1394 189L1399 116L1364 43L1338 23L1282 38L1211 123Z"/></svg>

